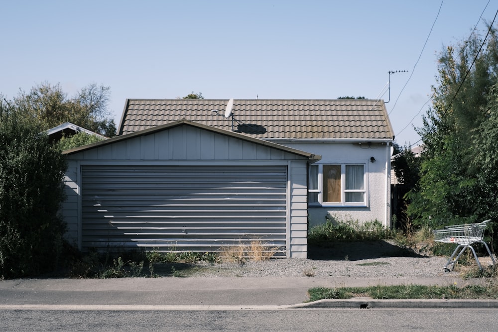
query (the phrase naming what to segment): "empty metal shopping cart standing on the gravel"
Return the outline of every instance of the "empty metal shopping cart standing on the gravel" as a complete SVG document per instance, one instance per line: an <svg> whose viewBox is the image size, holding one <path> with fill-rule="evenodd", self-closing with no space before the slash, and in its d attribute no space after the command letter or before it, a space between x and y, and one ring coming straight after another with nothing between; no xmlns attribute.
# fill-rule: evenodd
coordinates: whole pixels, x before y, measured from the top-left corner
<svg viewBox="0 0 498 332"><path fill-rule="evenodd" d="M490 254L493 264L496 264L495 258L491 254L488 244L486 244L486 242L483 240L484 230L486 229L486 226L490 221L491 219L479 223L446 226L443 229L432 231L434 233L435 241L458 244L458 246L455 248L455 251L453 251L450 258L448 259L448 262L446 262L446 265L444 266L445 272L453 271L455 263L467 248L470 248L472 250L474 257L476 258L477 265L479 266L479 269L482 270L483 267L481 266L481 263L477 258L476 250L474 250L474 248L472 247L474 243L483 243L486 247L486 250L488 250L488 253ZM460 252L457 257L455 257L455 254L458 252L458 250L460 250ZM448 268L448 265L450 265L451 268Z"/></svg>

